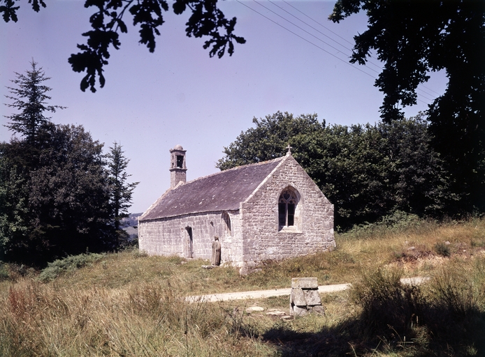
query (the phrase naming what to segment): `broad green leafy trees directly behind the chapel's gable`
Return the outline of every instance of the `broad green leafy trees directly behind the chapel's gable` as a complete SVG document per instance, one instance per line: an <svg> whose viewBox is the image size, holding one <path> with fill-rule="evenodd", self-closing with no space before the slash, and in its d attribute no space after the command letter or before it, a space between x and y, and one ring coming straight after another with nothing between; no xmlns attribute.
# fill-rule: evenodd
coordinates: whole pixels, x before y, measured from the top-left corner
<svg viewBox="0 0 485 357"><path fill-rule="evenodd" d="M341 228L397 210L441 215L456 200L422 116L348 127L326 126L315 114L277 112L253 123L224 148L217 167L271 160L290 144L294 158L335 205Z"/></svg>

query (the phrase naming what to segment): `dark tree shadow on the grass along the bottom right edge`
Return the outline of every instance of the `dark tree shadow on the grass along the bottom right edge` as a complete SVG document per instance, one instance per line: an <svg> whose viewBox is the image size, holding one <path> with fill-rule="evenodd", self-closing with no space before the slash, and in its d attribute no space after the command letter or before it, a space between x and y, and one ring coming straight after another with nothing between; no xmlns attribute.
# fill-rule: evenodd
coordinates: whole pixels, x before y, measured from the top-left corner
<svg viewBox="0 0 485 357"><path fill-rule="evenodd" d="M364 314L318 333L293 331L291 325L272 328L261 337L279 356L485 356L485 313L464 319L449 310L432 309L443 319L423 321L396 331L393 326L372 326Z"/></svg>

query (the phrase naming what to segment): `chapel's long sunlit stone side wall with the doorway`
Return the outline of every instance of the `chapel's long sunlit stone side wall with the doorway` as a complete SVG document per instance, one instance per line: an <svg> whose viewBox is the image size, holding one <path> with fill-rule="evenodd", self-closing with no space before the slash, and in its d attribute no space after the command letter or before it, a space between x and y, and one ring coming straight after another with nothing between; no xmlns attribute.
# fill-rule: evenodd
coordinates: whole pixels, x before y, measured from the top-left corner
<svg viewBox="0 0 485 357"><path fill-rule="evenodd" d="M238 261L243 261L240 215L238 211L227 213L231 218L231 234L226 229L222 211L141 221L138 224L138 245L149 255L188 257L188 233L185 228L191 227L194 258L210 259L212 241L214 236L219 236L222 263L238 265Z"/></svg>

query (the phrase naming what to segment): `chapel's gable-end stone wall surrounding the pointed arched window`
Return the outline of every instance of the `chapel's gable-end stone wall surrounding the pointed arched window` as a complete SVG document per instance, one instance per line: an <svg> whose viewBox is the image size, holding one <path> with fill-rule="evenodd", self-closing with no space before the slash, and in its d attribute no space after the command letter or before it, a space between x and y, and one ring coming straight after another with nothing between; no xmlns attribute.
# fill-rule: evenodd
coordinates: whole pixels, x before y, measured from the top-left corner
<svg viewBox="0 0 485 357"><path fill-rule="evenodd" d="M277 202L287 186L301 195L303 212L301 231L278 231ZM333 237L333 204L294 158L287 158L253 197L241 204L243 222L243 259L255 266L266 259L284 259L306 255L335 246Z"/></svg>

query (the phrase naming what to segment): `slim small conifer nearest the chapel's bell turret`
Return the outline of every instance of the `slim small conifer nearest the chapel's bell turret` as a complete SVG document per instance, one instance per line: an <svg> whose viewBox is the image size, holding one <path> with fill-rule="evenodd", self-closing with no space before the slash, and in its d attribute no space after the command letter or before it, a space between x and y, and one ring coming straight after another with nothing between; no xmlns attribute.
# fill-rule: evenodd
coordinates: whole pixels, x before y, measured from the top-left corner
<svg viewBox="0 0 485 357"><path fill-rule="evenodd" d="M128 217L128 208L131 206L133 190L139 182L127 183L129 174L126 173L129 159L125 158L124 151L117 142L113 143L108 153L108 173L110 182L110 204L115 218L115 229L120 231L120 221Z"/></svg>

